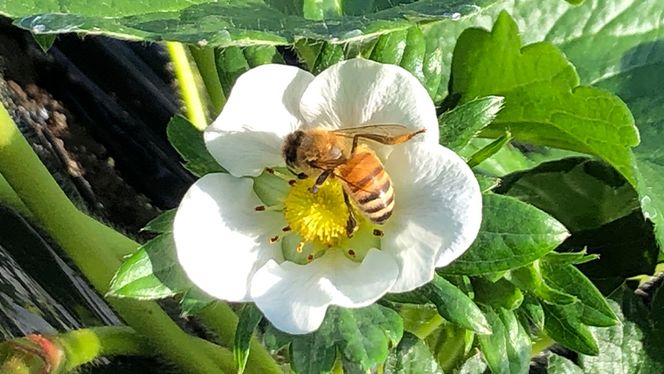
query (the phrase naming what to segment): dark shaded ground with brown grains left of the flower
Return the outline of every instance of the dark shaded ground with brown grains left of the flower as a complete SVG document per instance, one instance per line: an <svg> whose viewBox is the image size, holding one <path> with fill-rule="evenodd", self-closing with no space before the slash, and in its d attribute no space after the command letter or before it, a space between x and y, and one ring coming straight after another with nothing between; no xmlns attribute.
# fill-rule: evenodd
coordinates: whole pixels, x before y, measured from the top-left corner
<svg viewBox="0 0 664 374"><path fill-rule="evenodd" d="M110 53L117 43L129 57L106 56L102 63L84 56L89 49ZM121 73L127 66L114 64L119 59L134 73ZM117 74L109 79L109 71ZM136 234L160 210L176 206L193 179L165 138L178 102L163 51L65 36L44 53L30 34L4 23L0 72L0 100L79 207ZM150 79L137 80L139 74ZM160 100L141 97L155 87Z"/></svg>

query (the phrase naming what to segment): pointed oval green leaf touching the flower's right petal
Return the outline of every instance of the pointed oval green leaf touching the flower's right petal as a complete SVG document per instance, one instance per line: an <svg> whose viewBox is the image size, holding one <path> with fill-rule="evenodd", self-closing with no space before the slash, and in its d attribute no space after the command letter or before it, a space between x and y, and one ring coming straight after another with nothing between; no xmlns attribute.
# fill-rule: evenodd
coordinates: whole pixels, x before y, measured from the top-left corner
<svg viewBox="0 0 664 374"><path fill-rule="evenodd" d="M567 230L546 213L511 197L483 195L482 226L444 274L482 275L527 265L553 250Z"/></svg>

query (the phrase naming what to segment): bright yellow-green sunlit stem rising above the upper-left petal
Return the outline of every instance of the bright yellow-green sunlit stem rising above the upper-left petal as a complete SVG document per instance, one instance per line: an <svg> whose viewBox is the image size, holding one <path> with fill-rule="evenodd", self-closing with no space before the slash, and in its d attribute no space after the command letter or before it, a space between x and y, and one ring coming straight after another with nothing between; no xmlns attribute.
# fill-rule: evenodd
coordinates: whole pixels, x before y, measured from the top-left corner
<svg viewBox="0 0 664 374"><path fill-rule="evenodd" d="M180 86L180 95L184 102L187 118L197 129L202 131L207 127L205 106L201 101L187 50L181 43L176 42L167 42L166 49L168 49L168 54L171 56L171 61L173 61L173 68Z"/></svg>

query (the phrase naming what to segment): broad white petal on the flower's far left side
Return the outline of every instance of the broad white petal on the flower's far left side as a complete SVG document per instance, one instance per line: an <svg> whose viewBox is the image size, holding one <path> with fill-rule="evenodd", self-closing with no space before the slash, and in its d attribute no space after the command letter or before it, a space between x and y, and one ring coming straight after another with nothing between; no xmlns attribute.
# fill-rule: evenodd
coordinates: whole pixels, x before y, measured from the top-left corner
<svg viewBox="0 0 664 374"><path fill-rule="evenodd" d="M208 174L185 195L173 235L180 265L200 289L219 299L249 301L249 280L269 259L281 260L269 237L285 223L261 205L252 180Z"/></svg>

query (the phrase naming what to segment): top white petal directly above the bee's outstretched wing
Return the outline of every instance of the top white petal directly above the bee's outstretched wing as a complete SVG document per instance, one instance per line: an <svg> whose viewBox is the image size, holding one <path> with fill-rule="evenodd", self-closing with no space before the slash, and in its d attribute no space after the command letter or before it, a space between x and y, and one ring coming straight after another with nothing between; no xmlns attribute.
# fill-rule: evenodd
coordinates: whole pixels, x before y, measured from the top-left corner
<svg viewBox="0 0 664 374"><path fill-rule="evenodd" d="M396 65L364 59L332 65L307 87L300 111L310 127L397 123L426 128L421 139L438 143L433 101L417 78Z"/></svg>

